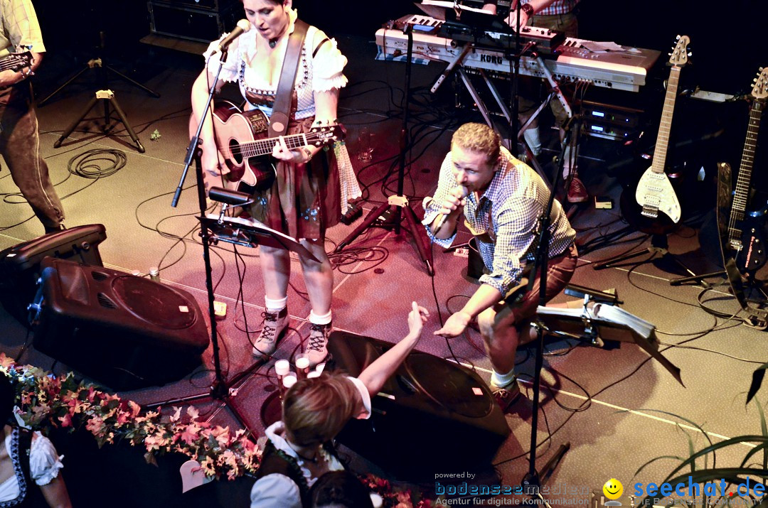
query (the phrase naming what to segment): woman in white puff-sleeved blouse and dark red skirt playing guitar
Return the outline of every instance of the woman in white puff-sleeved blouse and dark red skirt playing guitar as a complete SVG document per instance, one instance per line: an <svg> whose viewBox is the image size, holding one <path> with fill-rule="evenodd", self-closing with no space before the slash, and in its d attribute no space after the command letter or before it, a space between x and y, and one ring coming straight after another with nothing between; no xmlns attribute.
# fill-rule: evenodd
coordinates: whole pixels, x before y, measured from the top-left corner
<svg viewBox="0 0 768 508"><path fill-rule="evenodd" d="M335 124L339 88L347 81L342 74L346 58L336 48L336 41L299 21L296 10L291 8L291 0L243 0L243 8L252 29L230 45L217 89L220 90L223 82L236 82L245 99L245 110L258 109L271 117L270 127L276 134L283 134L280 132L284 127L282 120L287 117L284 134L290 140L293 140L290 134L308 133L313 127ZM200 134L201 163L204 173L217 177L227 173L231 163L221 153L227 153L227 147L217 150L213 127L216 122L210 113L204 112L204 107L218 69L219 48L219 41L211 43L206 53L206 69L192 88L194 116L200 118L204 113L207 116ZM283 75L287 78L281 82ZM286 98L289 95L290 101ZM285 107L282 112L281 102ZM290 107L286 107L287 104ZM339 222L342 203L359 196L359 187L343 145L337 143L335 148L329 148L322 143L305 146L291 142L289 147L285 139L276 137L273 143L271 157L275 163L270 175L273 181L271 185L267 183L266 188L257 183L250 213L266 226L299 239L319 259L319 262L300 259L312 306L306 352L314 366L325 359L331 332L333 272L324 248L326 228ZM253 166L253 159L250 164ZM290 257L286 250L260 246L260 262L266 309L253 355L269 357L288 329Z"/></svg>

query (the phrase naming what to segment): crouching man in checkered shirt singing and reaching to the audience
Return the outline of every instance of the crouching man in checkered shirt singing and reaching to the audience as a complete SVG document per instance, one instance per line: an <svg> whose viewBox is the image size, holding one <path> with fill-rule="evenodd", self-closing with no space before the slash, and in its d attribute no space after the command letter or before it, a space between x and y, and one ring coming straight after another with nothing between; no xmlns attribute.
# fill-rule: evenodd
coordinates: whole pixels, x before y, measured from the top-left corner
<svg viewBox="0 0 768 508"><path fill-rule="evenodd" d="M435 198L425 210L424 225L440 246L450 246L458 217L475 236L485 264L481 285L464 307L435 332L461 335L477 318L485 351L491 359L491 388L507 411L520 395L515 378L515 351L521 334L528 334L538 306L538 275L531 292L508 306L505 295L521 280L535 256L538 219L549 190L534 170L511 156L485 124L465 124L453 135L445 156ZM550 216L546 299L564 289L576 269L576 233L555 200Z"/></svg>

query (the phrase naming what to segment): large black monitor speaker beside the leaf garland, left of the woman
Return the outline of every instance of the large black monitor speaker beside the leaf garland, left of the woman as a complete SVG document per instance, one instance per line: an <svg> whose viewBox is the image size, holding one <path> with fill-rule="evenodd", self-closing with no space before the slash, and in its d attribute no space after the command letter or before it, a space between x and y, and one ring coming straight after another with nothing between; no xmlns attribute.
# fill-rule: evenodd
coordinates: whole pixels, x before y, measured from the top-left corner
<svg viewBox="0 0 768 508"><path fill-rule="evenodd" d="M45 258L33 344L114 390L177 381L210 341L188 292L97 266Z"/></svg>

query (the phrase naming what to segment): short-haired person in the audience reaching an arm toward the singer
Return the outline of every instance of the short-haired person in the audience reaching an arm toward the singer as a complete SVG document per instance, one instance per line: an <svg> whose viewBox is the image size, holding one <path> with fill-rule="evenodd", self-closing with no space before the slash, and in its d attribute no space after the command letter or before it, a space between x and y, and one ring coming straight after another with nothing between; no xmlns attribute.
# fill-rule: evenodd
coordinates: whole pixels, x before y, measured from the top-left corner
<svg viewBox="0 0 768 508"><path fill-rule="evenodd" d="M251 508L310 506L310 488L325 473L344 470L331 440L350 418L371 415L379 393L419 342L429 312L412 302L409 333L357 378L327 374L302 379L283 398L283 419L264 431L266 445L250 492Z"/></svg>

